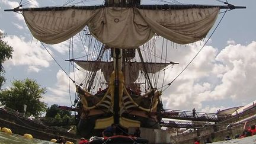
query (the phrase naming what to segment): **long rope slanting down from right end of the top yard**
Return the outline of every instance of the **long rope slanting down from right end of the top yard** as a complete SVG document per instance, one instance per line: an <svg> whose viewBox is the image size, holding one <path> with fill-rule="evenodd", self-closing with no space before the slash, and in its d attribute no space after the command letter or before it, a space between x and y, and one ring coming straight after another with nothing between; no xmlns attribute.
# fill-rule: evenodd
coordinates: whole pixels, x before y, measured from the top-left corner
<svg viewBox="0 0 256 144"><path fill-rule="evenodd" d="M206 43L210 40L210 38L213 36L213 33L215 33L217 27L219 27L220 22L222 21L222 19L224 18L226 12L228 11L228 9L226 9L226 11L224 12L224 14L222 15L222 18L220 18L219 23L216 25L215 29L213 30L212 34L210 34L210 37L206 40L206 42L203 44L203 46L201 47L201 49L199 50L199 52L197 52L197 54L193 57L193 59L190 60L190 62L187 64L187 66L185 66L185 68L183 69L183 71L181 71L170 83L168 83L167 85L164 85L163 87L167 88L172 84L172 82L174 82L178 76L181 75L181 73L183 73L185 71L185 69L188 68L188 66L193 62L193 60L197 57L197 55L199 55L199 53L201 52L201 50L204 48L204 46L206 46ZM162 92L164 92L167 88L165 88Z"/></svg>

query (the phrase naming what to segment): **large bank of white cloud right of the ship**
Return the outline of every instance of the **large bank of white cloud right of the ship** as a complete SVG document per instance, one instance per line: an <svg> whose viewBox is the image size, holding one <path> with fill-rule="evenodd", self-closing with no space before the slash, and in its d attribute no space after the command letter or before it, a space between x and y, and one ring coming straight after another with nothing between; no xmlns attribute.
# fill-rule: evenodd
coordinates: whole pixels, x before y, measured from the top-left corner
<svg viewBox="0 0 256 144"><path fill-rule="evenodd" d="M208 106L204 106L203 103L214 104L215 101L221 100L242 104L253 100L256 93L256 42L252 41L247 46L233 43L219 53L217 48L204 47L184 73L163 92L165 107L183 110L196 107L201 111L214 111L215 108L226 107L217 104L207 108ZM172 81L199 49L194 46L186 48L180 49L187 52L169 56L173 59L183 59L177 58L179 60L175 62L180 62L180 65L167 72L167 81Z"/></svg>

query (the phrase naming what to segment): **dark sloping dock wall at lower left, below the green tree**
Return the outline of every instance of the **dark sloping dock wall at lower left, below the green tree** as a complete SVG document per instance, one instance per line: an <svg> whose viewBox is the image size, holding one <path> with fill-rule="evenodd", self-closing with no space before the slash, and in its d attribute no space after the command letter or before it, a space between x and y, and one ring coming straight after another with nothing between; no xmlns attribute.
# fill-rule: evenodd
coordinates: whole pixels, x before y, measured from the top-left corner
<svg viewBox="0 0 256 144"><path fill-rule="evenodd" d="M65 129L56 129L56 127L45 126L36 120L30 120L16 111L0 108L0 127L7 127L12 133L24 135L28 133L36 139L51 140L59 136L65 137L66 140L76 142L79 139L76 135L68 133Z"/></svg>

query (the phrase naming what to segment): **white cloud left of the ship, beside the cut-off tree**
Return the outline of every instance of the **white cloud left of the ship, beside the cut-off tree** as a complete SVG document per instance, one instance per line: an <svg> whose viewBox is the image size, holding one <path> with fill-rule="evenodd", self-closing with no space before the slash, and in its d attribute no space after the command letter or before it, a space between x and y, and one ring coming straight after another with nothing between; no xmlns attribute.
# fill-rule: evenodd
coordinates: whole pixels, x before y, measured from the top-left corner
<svg viewBox="0 0 256 144"><path fill-rule="evenodd" d="M14 49L12 59L5 61L5 66L11 68L11 66L27 65L30 66L28 71L34 72L49 67L52 57L38 44L30 44L22 36L6 36L4 40Z"/></svg>

